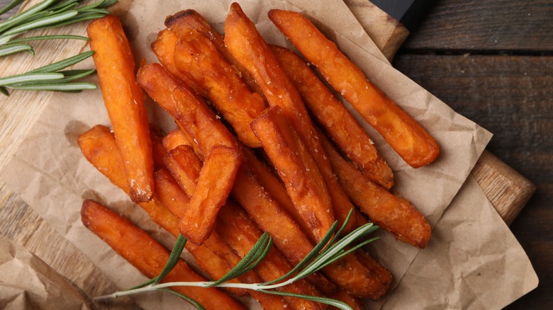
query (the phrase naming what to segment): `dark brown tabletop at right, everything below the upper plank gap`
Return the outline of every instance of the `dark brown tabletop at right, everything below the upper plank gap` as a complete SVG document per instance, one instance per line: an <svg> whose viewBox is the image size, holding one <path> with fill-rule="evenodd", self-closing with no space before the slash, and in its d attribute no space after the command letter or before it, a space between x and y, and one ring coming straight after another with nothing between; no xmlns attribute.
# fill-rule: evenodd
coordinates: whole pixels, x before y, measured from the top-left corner
<svg viewBox="0 0 553 310"><path fill-rule="evenodd" d="M413 36L418 31L423 30ZM474 53L401 50L393 64L493 132L488 151L536 185L510 229L530 257L540 285L507 309L543 309L553 304L553 57Z"/></svg>

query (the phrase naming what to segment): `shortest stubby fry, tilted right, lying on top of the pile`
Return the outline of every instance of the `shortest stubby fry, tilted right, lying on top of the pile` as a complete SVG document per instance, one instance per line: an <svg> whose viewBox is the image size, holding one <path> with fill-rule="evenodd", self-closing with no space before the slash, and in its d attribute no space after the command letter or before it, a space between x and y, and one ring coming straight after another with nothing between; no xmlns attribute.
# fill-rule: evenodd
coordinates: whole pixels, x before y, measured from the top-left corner
<svg viewBox="0 0 553 310"><path fill-rule="evenodd" d="M181 234L192 243L201 245L208 239L242 164L240 151L216 146L206 156L196 190L179 223Z"/></svg>

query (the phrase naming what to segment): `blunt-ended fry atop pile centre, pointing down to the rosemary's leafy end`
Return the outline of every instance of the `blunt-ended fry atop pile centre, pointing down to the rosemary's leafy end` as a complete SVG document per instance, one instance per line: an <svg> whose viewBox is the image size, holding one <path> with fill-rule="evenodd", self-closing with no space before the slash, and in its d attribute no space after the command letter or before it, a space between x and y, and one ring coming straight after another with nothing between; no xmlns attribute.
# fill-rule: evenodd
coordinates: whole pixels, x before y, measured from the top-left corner
<svg viewBox="0 0 553 310"><path fill-rule="evenodd" d="M278 105L257 117L252 130L277 168L288 195L308 226L308 234L319 242L335 220L325 180L311 153Z"/></svg>

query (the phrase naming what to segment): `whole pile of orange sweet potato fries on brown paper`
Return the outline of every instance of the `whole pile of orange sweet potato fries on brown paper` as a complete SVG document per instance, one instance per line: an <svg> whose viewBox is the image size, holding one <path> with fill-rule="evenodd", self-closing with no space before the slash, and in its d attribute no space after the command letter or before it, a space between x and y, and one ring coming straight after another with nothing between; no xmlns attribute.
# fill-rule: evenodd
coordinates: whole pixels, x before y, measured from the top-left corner
<svg viewBox="0 0 553 310"><path fill-rule="evenodd" d="M84 132L82 154L155 223L186 237L186 249L213 279L233 268L263 231L276 248L233 281L284 275L350 209L354 220L345 232L368 217L396 239L424 248L430 225L407 200L389 192L391 168L313 67L410 166L438 156L435 139L306 17L272 10L269 18L305 60L268 45L238 4L230 6L224 37L196 11L167 17L167 28L152 42L160 64L145 64L138 74L120 21L106 16L90 23L90 47L113 130L96 125ZM143 91L174 117L176 129L162 134L150 125ZM166 248L97 202L83 203L82 222L148 277L167 261ZM166 279L202 280L184 261ZM281 289L361 309L360 299L378 299L390 283L390 272L357 251ZM216 288L174 289L206 309L244 307ZM294 297L229 291L251 294L264 309L324 308Z"/></svg>

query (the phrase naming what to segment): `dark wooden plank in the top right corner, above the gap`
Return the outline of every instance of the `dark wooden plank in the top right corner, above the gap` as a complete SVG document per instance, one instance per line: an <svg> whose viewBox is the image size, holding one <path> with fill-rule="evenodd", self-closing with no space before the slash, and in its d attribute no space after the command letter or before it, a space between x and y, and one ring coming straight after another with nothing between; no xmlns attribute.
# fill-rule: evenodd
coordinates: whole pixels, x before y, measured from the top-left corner
<svg viewBox="0 0 553 310"><path fill-rule="evenodd" d="M408 50L553 50L553 1L436 1L402 48Z"/></svg>

